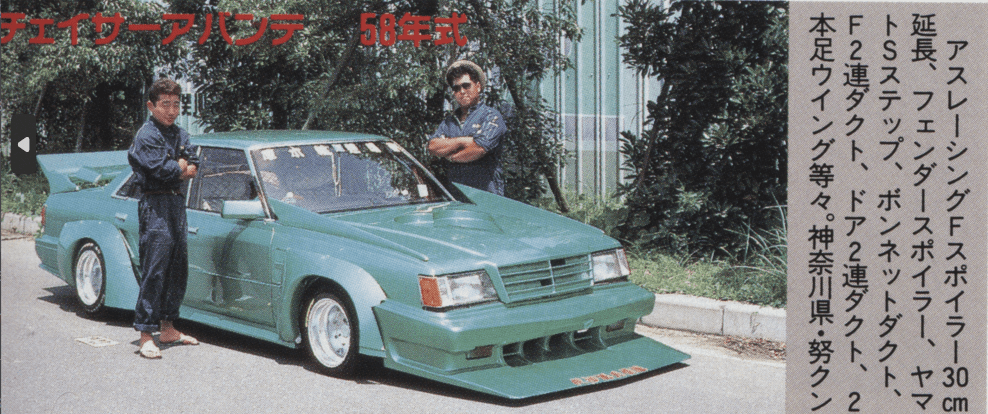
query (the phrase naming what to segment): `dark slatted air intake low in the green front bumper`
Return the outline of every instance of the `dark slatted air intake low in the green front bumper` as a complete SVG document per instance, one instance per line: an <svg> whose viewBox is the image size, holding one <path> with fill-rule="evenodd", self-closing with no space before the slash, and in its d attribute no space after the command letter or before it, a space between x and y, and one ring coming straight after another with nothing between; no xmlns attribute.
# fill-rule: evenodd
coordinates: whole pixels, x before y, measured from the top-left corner
<svg viewBox="0 0 988 414"><path fill-rule="evenodd" d="M575 332L564 332L525 342L507 344L502 348L504 362L512 367L520 367L603 349L604 343L600 339L600 329L600 327L596 327Z"/></svg>

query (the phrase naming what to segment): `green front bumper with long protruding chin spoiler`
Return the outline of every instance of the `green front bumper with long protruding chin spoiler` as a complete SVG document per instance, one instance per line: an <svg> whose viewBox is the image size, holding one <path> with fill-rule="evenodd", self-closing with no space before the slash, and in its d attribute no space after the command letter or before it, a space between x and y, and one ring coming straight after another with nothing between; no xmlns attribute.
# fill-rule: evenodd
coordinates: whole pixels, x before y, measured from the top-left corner
<svg viewBox="0 0 988 414"><path fill-rule="evenodd" d="M507 398L621 379L689 358L634 333L655 297L631 283L508 306L430 312L394 301L374 308L385 366ZM478 356L476 351L481 352ZM471 352L474 352L471 354Z"/></svg>

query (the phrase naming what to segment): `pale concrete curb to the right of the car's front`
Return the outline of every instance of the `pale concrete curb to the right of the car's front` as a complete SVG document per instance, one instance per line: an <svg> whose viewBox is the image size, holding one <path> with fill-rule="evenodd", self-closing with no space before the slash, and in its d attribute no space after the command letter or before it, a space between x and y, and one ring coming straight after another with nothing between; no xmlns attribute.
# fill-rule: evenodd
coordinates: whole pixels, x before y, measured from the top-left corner
<svg viewBox="0 0 988 414"><path fill-rule="evenodd" d="M696 296L657 294L641 322L655 328L786 341L785 309Z"/></svg>

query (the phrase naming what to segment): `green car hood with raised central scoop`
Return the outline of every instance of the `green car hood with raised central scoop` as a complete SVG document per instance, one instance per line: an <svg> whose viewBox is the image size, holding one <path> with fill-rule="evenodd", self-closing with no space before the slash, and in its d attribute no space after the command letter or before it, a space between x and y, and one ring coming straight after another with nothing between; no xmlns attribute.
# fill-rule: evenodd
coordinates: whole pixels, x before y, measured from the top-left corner
<svg viewBox="0 0 988 414"><path fill-rule="evenodd" d="M619 247L616 240L583 223L507 199L500 204L451 202L323 215L277 201L272 207L279 216L297 215L301 219L298 227L417 257L436 267L437 272L472 269L476 263L502 266Z"/></svg>

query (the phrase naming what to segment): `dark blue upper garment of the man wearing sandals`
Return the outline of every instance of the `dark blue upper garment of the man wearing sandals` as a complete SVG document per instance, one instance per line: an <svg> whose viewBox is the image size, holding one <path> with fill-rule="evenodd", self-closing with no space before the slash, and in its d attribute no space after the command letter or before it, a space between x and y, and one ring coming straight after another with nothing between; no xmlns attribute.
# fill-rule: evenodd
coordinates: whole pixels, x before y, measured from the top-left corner
<svg viewBox="0 0 988 414"><path fill-rule="evenodd" d="M164 126L148 118L137 131L134 142L127 151L127 161L134 169L135 185L143 192L181 190L184 181L178 159L199 165L196 147L189 142L189 133L178 125Z"/></svg>

